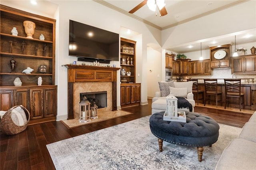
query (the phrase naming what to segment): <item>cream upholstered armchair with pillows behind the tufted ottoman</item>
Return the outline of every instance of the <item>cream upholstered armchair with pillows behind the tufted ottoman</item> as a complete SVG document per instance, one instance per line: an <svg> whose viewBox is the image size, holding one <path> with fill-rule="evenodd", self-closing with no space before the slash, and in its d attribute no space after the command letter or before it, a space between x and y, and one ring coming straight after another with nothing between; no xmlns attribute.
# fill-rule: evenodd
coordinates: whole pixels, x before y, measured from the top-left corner
<svg viewBox="0 0 256 170"><path fill-rule="evenodd" d="M166 111L166 96L170 94L175 97L184 97L191 105L192 112L196 105L194 101L194 95L192 93L193 81L188 82L158 82L160 91L155 93L155 97L152 98L152 115L161 111ZM189 111L187 108L178 108L181 111Z"/></svg>

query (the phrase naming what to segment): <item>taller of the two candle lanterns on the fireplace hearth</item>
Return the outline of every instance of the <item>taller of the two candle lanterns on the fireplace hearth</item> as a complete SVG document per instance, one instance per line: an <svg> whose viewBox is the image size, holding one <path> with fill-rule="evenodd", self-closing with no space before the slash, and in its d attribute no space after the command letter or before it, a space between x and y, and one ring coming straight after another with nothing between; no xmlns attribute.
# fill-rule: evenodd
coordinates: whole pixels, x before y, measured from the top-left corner
<svg viewBox="0 0 256 170"><path fill-rule="evenodd" d="M79 105L80 105L80 122L88 122L90 121L90 102L87 100L87 98L84 96L83 100L80 101Z"/></svg>

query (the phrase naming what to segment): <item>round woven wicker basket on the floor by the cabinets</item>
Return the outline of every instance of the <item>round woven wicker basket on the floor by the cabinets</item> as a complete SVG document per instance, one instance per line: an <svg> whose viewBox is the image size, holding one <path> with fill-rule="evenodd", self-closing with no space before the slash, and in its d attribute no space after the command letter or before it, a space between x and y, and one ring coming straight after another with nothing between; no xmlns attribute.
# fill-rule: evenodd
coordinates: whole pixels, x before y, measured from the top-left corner
<svg viewBox="0 0 256 170"><path fill-rule="evenodd" d="M1 131L4 132L5 134L17 134L17 133L20 133L23 130L25 130L27 128L27 126L28 126L28 122L30 120L30 113L23 106L20 106L20 107L24 110L24 112L26 114L26 118L28 120L27 123L25 125L23 125L23 126L18 126L18 125L15 125L15 123L13 123L11 114L12 114L12 109L14 109L16 107L18 107L18 106L14 106L11 109L9 109L8 111L6 111L6 113L4 114L3 118L1 119Z"/></svg>

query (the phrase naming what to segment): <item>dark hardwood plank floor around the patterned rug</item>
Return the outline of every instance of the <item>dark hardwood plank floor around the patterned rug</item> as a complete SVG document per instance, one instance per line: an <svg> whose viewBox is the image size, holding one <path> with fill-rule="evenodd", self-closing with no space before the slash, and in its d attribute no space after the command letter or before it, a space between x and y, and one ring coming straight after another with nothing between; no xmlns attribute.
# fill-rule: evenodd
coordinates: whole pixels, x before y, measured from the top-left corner
<svg viewBox="0 0 256 170"><path fill-rule="evenodd" d="M54 170L55 167L46 144L151 115L151 103L152 100L149 99L148 105L123 108L123 110L134 114L80 127L66 128L60 121L51 121L29 125L26 130L15 135L1 133L0 169ZM221 111L198 106L195 107L195 112L208 115L218 123L234 127L243 127L251 117L251 114Z"/></svg>

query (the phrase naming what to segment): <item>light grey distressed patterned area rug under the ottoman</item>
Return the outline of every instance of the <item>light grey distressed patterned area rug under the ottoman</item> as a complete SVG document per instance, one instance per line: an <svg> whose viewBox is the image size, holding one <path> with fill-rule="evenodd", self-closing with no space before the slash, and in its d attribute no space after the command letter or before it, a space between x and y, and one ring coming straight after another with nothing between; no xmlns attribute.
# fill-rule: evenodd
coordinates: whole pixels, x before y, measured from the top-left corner
<svg viewBox="0 0 256 170"><path fill-rule="evenodd" d="M203 160L198 162L196 147L164 141L163 151L159 152L149 118L61 140L47 148L57 170L213 170L224 148L242 130L220 124L218 141L204 147Z"/></svg>

